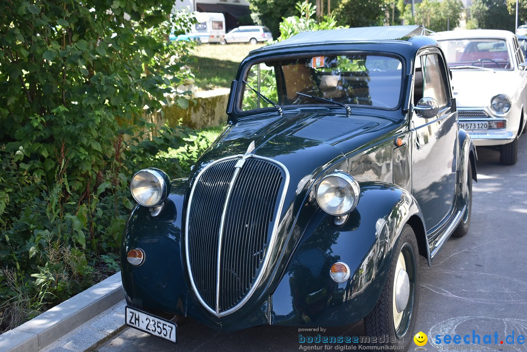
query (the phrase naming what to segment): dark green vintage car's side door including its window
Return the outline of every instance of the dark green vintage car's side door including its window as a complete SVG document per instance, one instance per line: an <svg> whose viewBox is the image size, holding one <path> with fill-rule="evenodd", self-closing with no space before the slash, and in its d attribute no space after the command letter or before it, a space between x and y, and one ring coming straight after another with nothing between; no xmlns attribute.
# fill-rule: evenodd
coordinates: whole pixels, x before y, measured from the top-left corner
<svg viewBox="0 0 527 352"><path fill-rule="evenodd" d="M434 98L436 116L419 117L413 109L411 128L412 190L430 234L451 214L457 164L457 121L443 55L425 49L415 60L413 104L423 97Z"/></svg>

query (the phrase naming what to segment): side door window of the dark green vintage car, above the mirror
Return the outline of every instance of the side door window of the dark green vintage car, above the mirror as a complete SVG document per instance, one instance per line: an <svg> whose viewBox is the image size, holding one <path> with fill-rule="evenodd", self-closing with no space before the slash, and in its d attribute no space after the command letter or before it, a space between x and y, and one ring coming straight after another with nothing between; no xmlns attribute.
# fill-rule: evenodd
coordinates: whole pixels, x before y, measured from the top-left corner
<svg viewBox="0 0 527 352"><path fill-rule="evenodd" d="M434 98L442 109L448 104L446 73L437 54L419 57L415 63L414 105L423 97Z"/></svg>

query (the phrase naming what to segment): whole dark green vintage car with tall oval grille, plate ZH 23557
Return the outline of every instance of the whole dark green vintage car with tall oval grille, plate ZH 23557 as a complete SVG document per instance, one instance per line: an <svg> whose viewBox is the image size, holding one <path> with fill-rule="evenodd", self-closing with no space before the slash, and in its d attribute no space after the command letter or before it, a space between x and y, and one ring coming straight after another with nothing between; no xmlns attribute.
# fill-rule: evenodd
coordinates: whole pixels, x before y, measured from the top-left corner
<svg viewBox="0 0 527 352"><path fill-rule="evenodd" d="M126 324L336 326L408 346L428 265L470 223L476 153L417 26L306 32L240 65L189 178L135 174ZM400 346L399 346L400 347Z"/></svg>

